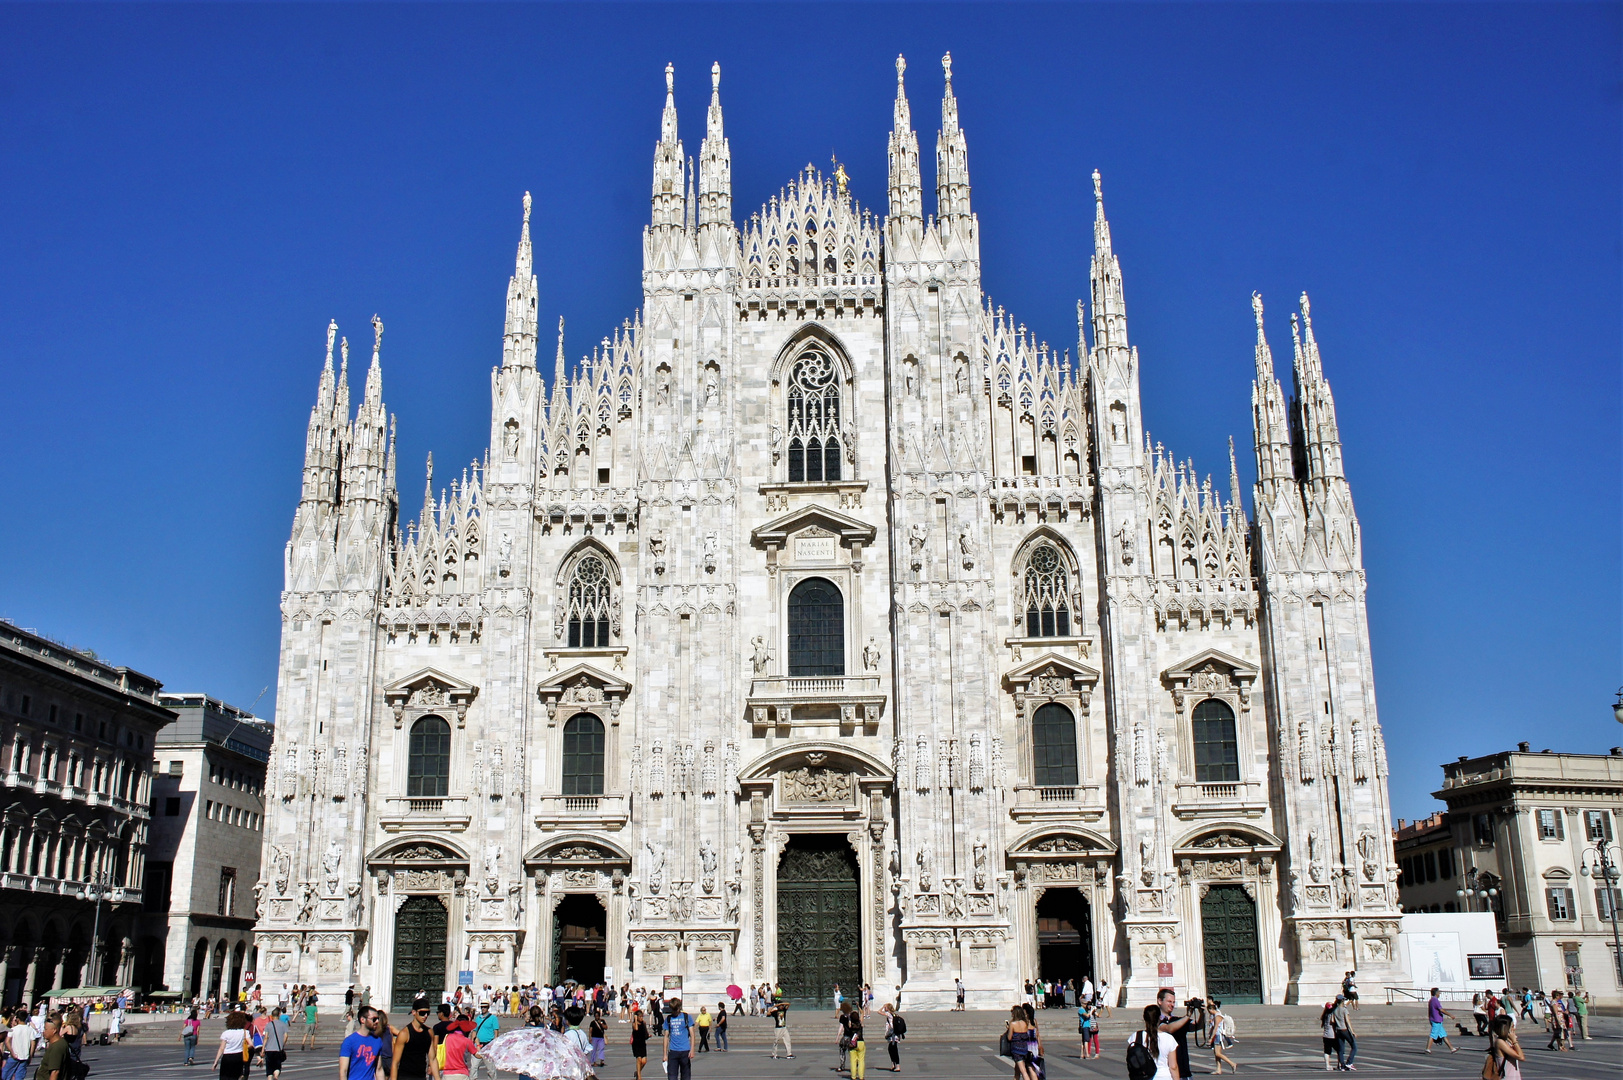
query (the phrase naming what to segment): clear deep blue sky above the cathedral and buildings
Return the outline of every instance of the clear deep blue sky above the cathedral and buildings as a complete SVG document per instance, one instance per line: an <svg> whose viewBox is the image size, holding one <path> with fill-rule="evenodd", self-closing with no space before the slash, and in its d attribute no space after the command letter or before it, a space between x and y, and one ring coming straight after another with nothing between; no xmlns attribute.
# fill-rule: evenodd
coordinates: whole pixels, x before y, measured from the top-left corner
<svg viewBox="0 0 1623 1080"><path fill-rule="evenodd" d="M388 325L401 487L482 453L519 197L571 356L638 304L662 70L742 218L951 49L987 292L1074 344L1105 177L1156 438L1250 445L1302 289L1363 521L1393 804L1623 742L1618 5L0 6L0 616L174 690L274 684L323 333ZM927 164L927 187L932 184ZM357 378L359 393L359 378ZM1251 471L1242 453L1242 468ZM268 713L271 695L260 702Z"/></svg>

